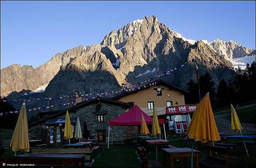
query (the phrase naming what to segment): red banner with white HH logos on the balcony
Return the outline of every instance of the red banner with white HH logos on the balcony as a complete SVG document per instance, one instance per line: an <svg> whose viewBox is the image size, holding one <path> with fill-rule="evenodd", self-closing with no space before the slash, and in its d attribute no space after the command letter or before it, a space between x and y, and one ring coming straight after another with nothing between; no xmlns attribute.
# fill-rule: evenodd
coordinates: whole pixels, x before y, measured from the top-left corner
<svg viewBox="0 0 256 168"><path fill-rule="evenodd" d="M175 107L166 107L167 114L176 114L176 113L189 113L194 112L197 104L194 105L180 105Z"/></svg>

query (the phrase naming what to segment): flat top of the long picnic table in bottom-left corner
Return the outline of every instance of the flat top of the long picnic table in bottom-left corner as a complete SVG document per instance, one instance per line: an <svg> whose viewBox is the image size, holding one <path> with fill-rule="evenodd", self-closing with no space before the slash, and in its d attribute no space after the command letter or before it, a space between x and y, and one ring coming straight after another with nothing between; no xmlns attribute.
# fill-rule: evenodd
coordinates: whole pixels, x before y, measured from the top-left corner
<svg viewBox="0 0 256 168"><path fill-rule="evenodd" d="M34 154L34 153L27 153L23 155L13 156L13 157L37 157L37 158L43 158L43 157L49 157L49 158L81 158L86 155L73 155L73 154Z"/></svg>

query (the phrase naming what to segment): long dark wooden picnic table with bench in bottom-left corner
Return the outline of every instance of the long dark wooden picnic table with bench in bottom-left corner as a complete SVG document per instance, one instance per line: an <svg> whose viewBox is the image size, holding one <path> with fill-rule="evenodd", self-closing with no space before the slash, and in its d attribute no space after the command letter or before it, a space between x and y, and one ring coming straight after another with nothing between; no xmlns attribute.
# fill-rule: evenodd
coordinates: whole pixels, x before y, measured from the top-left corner
<svg viewBox="0 0 256 168"><path fill-rule="evenodd" d="M81 167L84 167L85 156L86 155L28 153L9 158L1 158L1 163L5 163L5 167L7 167L7 164L62 165L62 167L65 167L65 165L74 165L75 167L79 167L79 163L81 163Z"/></svg>

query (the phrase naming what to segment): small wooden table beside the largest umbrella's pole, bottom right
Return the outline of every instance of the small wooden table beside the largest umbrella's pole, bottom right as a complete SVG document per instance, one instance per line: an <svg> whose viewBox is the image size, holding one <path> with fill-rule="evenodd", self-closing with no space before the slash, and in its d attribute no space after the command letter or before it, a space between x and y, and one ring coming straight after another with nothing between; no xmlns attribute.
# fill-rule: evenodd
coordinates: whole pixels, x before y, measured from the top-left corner
<svg viewBox="0 0 256 168"><path fill-rule="evenodd" d="M173 167L174 157L184 157L184 167L187 167L187 157L191 157L190 148L162 148L163 150L163 162L164 167L166 167L166 155L170 158L170 167ZM199 157L200 151L193 149L193 157L195 157L195 165L199 167Z"/></svg>

